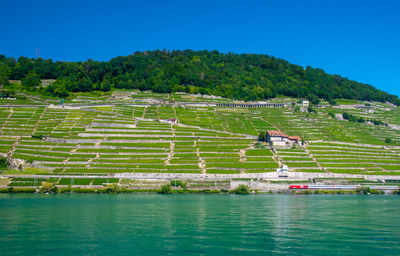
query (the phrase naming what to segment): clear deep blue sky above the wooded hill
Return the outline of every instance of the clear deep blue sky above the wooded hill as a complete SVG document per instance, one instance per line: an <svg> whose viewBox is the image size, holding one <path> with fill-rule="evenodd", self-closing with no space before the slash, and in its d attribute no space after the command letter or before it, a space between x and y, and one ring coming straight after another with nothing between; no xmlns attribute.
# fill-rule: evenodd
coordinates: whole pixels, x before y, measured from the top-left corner
<svg viewBox="0 0 400 256"><path fill-rule="evenodd" d="M261 53L400 96L400 0L0 0L0 54Z"/></svg>

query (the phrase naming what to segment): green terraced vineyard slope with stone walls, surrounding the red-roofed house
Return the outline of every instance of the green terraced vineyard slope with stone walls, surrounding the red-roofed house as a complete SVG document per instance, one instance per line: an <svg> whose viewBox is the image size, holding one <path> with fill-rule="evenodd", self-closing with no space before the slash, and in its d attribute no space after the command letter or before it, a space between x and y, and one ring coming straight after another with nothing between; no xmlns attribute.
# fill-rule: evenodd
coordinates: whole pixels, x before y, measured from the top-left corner
<svg viewBox="0 0 400 256"><path fill-rule="evenodd" d="M149 99L229 103L226 99L184 94L122 90L113 95L80 94L71 103L146 103ZM376 107L373 112L346 111L366 119L400 124L398 110ZM23 170L57 174L252 173L275 171L278 163L302 172L400 172L399 130L333 119L328 113L343 113L337 108L317 112L306 113L292 107L247 109L166 104L81 109L3 107L0 153L25 160ZM177 119L179 124L167 123L170 118ZM266 130L298 135L309 144L306 148L277 149L275 153L269 147L254 148L256 141L249 136ZM57 182L61 185L71 181Z"/></svg>

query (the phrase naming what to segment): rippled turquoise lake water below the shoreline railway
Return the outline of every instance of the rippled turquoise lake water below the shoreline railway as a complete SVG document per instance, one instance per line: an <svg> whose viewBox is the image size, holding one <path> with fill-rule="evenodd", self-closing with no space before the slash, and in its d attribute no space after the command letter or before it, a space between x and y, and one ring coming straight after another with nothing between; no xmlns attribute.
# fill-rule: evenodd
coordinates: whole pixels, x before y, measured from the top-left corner
<svg viewBox="0 0 400 256"><path fill-rule="evenodd" d="M400 255L400 196L0 194L0 255Z"/></svg>

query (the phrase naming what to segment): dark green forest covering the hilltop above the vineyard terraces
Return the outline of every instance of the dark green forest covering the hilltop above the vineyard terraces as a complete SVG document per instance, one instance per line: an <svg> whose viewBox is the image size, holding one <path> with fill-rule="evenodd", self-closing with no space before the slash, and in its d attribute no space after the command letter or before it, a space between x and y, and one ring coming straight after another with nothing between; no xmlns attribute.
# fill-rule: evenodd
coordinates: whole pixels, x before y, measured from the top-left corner
<svg viewBox="0 0 400 256"><path fill-rule="evenodd" d="M69 92L112 88L190 92L240 100L265 100L278 95L321 99L372 100L400 105L397 96L321 69L290 64L260 54L218 51L135 52L110 61L52 61L0 55L0 84L22 80L27 90L67 97ZM41 79L56 79L40 88Z"/></svg>

